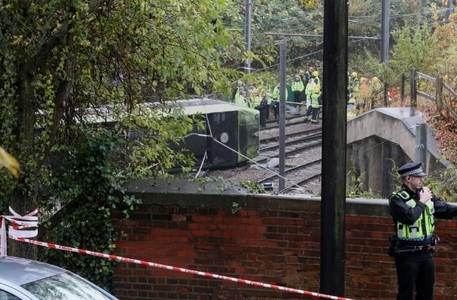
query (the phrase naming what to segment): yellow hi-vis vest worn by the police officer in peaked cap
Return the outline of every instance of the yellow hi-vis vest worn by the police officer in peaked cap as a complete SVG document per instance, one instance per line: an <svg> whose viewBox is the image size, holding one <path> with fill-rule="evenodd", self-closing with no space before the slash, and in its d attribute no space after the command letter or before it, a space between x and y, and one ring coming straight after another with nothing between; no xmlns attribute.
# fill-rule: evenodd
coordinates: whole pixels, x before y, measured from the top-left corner
<svg viewBox="0 0 457 300"><path fill-rule="evenodd" d="M406 205L410 207L416 207L417 203L414 199L411 199L407 192L401 191L394 193L400 198L405 200ZM422 240L430 235L432 235L435 230L435 218L433 213L435 208L433 201L429 200L425 202L425 208L420 217L412 225L407 225L396 222L397 237L403 240Z"/></svg>

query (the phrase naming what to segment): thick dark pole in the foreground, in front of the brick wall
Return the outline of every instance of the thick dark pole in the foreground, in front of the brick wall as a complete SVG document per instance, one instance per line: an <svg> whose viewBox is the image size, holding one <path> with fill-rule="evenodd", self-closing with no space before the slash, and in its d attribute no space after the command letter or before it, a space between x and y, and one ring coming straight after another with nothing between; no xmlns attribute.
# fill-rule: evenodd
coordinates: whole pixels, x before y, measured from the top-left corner
<svg viewBox="0 0 457 300"><path fill-rule="evenodd" d="M324 2L320 290L344 296L348 1Z"/></svg>

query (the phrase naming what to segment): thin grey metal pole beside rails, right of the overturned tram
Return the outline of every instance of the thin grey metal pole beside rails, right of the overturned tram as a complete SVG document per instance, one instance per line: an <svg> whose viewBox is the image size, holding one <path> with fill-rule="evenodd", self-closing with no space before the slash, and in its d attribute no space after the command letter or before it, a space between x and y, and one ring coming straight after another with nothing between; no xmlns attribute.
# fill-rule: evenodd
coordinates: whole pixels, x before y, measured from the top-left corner
<svg viewBox="0 0 457 300"><path fill-rule="evenodd" d="M286 41L279 44L279 192L286 188Z"/></svg>

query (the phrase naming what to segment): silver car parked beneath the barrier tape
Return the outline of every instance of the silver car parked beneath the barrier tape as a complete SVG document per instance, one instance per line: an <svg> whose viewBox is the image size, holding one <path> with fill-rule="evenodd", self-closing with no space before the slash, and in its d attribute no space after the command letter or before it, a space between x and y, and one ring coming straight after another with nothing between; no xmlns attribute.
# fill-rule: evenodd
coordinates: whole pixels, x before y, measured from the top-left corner
<svg viewBox="0 0 457 300"><path fill-rule="evenodd" d="M90 281L57 266L0 256L0 300L117 299Z"/></svg>

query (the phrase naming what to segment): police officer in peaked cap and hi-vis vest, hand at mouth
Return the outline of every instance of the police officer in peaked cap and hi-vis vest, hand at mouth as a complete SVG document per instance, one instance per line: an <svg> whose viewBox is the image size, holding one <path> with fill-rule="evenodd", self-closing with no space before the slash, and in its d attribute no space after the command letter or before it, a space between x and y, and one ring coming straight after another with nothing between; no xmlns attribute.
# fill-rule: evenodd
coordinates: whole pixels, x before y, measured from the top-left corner
<svg viewBox="0 0 457 300"><path fill-rule="evenodd" d="M398 300L429 300L433 298L435 264L433 250L437 238L434 217L450 219L457 216L452 206L424 187L426 174L420 163L407 163L397 171L402 187L389 198L390 214L396 234L391 237L389 255L395 256Z"/></svg>

